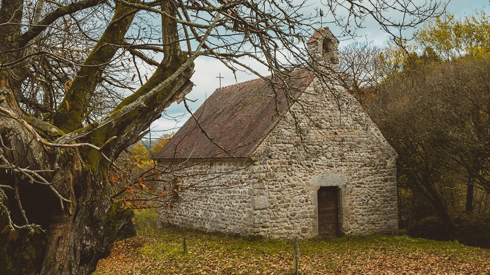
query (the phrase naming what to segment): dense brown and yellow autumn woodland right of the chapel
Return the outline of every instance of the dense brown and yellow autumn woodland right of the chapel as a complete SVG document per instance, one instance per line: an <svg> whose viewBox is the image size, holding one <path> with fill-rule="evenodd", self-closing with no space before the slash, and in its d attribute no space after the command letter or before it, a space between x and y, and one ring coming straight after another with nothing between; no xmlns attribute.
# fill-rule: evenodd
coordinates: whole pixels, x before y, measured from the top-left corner
<svg viewBox="0 0 490 275"><path fill-rule="evenodd" d="M411 236L490 245L489 19L446 14L404 48L344 48L345 84L398 153L400 229Z"/></svg>

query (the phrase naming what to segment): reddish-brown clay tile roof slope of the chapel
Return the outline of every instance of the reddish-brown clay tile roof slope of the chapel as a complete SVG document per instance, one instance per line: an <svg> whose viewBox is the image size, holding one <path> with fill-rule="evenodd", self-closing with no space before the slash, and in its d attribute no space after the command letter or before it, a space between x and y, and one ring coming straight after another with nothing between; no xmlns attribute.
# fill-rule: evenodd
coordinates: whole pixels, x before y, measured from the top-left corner
<svg viewBox="0 0 490 275"><path fill-rule="evenodd" d="M292 92L297 99L314 75L307 69L290 75L288 82L297 88ZM216 89L194 114L199 124L190 117L155 158L250 157L279 122L277 114L283 115L294 103L281 86L258 78Z"/></svg>

